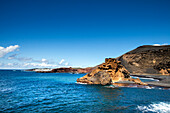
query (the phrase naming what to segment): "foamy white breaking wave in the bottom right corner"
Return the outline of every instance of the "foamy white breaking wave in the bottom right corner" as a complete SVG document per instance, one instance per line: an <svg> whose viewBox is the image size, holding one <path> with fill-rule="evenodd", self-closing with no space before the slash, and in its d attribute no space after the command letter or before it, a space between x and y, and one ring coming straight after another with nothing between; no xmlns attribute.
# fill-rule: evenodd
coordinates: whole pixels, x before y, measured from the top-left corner
<svg viewBox="0 0 170 113"><path fill-rule="evenodd" d="M158 104L153 103L148 106L137 106L137 109L144 112L156 112L156 113L170 113L170 103L160 102Z"/></svg>

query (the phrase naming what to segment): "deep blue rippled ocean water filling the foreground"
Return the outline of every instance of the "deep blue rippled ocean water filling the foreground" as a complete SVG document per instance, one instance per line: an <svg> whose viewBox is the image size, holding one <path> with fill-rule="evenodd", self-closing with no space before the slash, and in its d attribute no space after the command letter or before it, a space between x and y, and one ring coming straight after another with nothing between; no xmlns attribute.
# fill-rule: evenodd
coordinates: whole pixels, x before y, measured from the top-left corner
<svg viewBox="0 0 170 113"><path fill-rule="evenodd" d="M170 90L77 84L85 74L0 71L0 112L170 112Z"/></svg>

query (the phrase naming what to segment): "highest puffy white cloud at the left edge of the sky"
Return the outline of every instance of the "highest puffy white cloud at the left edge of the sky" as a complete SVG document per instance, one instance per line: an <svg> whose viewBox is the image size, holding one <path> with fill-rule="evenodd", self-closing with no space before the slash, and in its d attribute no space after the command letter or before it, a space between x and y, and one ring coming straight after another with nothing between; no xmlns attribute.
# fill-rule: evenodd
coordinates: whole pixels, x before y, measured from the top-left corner
<svg viewBox="0 0 170 113"><path fill-rule="evenodd" d="M4 57L6 54L15 51L16 49L19 48L19 45L14 45L14 46L9 46L9 47L1 47L0 46L0 58Z"/></svg>

